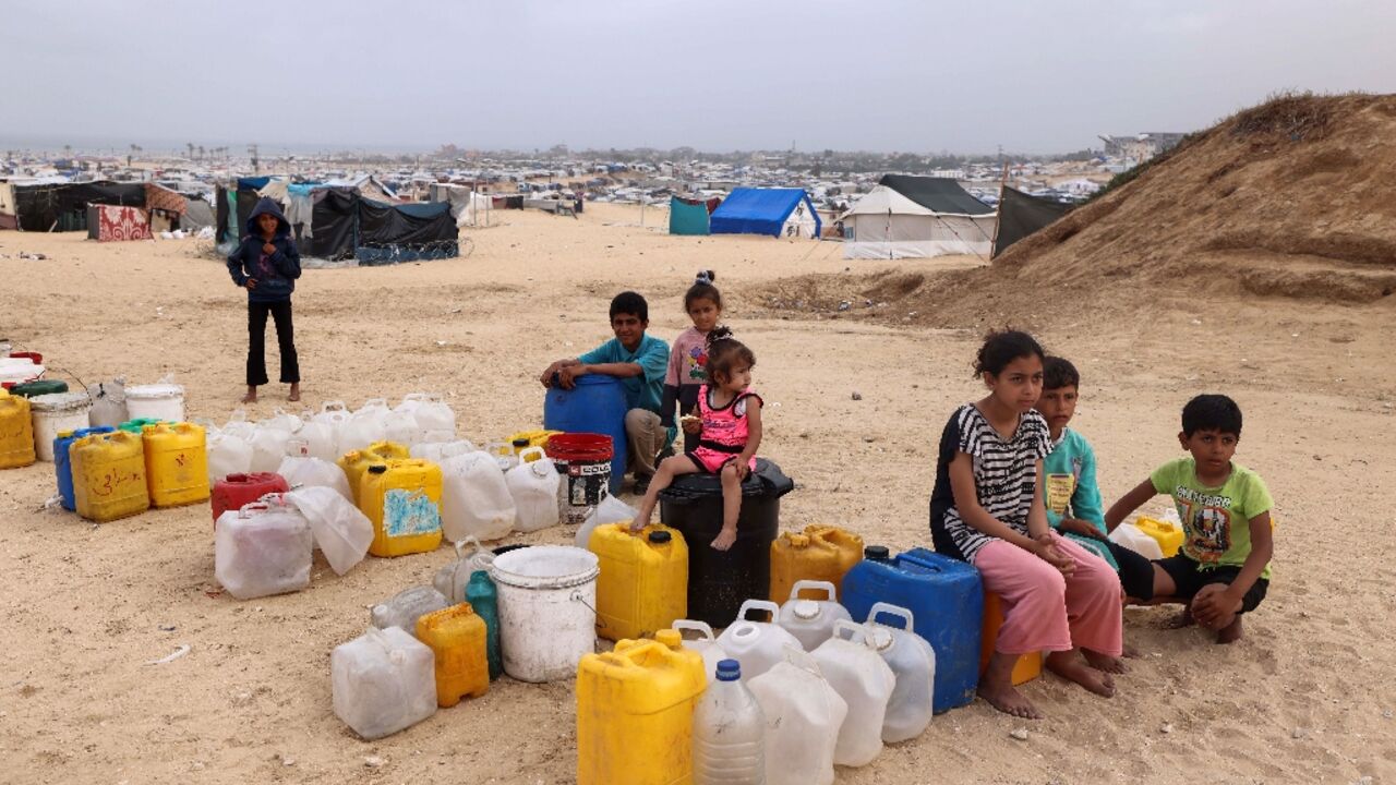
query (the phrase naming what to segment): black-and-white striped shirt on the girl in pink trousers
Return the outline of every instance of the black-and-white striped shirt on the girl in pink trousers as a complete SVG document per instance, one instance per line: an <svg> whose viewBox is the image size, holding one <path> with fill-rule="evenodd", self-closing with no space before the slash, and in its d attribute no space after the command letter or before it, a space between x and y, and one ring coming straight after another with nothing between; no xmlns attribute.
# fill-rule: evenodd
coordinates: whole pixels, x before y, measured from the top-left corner
<svg viewBox="0 0 1396 785"><path fill-rule="evenodd" d="M951 556L974 563L979 549L997 538L965 522L955 508L949 465L959 453L973 462L974 492L984 511L1029 536L1027 510L1037 485L1037 461L1051 454L1051 432L1040 413L1027 412L1019 416L1012 439L1004 440L974 404L965 404L945 423L931 493L931 531L937 550L951 550Z"/></svg>

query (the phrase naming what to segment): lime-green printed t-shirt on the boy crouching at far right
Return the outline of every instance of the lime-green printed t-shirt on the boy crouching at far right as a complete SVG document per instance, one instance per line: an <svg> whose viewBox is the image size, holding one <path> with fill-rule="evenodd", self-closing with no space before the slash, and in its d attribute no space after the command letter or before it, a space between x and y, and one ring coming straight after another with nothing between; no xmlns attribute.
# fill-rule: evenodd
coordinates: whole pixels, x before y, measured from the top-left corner
<svg viewBox="0 0 1396 785"><path fill-rule="evenodd" d="M1191 457L1168 461L1149 479L1154 490L1173 497L1182 521L1182 553L1202 570L1244 564L1251 555L1251 518L1275 506L1261 475L1235 461L1231 476L1217 487L1198 482ZM1269 580L1269 564L1261 577Z"/></svg>

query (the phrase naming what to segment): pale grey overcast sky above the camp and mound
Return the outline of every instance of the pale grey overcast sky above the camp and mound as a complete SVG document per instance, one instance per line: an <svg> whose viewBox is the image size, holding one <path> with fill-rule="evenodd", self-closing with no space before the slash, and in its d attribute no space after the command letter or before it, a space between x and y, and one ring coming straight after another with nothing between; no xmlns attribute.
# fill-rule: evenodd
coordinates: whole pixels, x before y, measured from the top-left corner
<svg viewBox="0 0 1396 785"><path fill-rule="evenodd" d="M144 0L0 8L0 141L1061 152L1396 91L1389 0Z"/></svg>

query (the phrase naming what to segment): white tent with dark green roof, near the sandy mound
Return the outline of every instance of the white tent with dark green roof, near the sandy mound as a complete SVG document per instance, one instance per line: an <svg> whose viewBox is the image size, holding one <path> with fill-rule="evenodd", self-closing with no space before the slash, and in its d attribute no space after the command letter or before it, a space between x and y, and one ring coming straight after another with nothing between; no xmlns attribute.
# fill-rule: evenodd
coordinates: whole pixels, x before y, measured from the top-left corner
<svg viewBox="0 0 1396 785"><path fill-rule="evenodd" d="M946 177L885 175L847 212L843 258L987 257L994 208Z"/></svg>

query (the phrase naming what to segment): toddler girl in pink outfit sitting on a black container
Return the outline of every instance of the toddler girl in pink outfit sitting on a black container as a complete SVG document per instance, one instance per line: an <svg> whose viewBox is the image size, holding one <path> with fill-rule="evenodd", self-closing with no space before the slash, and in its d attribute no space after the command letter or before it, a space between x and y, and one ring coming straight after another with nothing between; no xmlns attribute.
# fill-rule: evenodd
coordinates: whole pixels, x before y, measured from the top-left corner
<svg viewBox="0 0 1396 785"><path fill-rule="evenodd" d="M726 327L708 334L708 384L698 390L698 413L683 419L684 433L698 436L698 446L659 464L631 524L635 531L649 524L659 492L676 476L705 472L722 478L722 532L712 546L727 550L737 541L741 480L757 468L761 446L761 397L751 390L755 365L757 356Z"/></svg>

